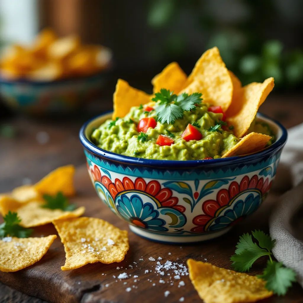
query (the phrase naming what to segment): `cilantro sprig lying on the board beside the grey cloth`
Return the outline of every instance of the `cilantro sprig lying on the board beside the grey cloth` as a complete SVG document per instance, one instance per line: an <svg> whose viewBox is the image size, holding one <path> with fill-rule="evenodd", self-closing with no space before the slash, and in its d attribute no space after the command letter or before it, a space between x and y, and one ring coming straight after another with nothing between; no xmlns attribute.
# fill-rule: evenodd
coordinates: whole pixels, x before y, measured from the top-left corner
<svg viewBox="0 0 303 303"><path fill-rule="evenodd" d="M232 266L237 271L249 271L251 266L259 258L267 256L269 260L259 278L266 281L265 287L277 295L285 295L292 282L296 281L296 274L291 268L285 267L281 262L273 261L271 258L272 248L275 240L263 231L255 230L251 232L258 241L255 243L250 234L240 236L236 245L235 255L231 256Z"/></svg>

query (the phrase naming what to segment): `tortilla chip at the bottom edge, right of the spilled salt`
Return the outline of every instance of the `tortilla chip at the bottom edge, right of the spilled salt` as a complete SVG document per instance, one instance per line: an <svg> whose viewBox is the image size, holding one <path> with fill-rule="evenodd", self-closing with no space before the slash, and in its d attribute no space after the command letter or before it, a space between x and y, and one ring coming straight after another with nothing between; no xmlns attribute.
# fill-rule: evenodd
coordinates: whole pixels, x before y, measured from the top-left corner
<svg viewBox="0 0 303 303"><path fill-rule="evenodd" d="M187 265L191 283L205 303L255 302L273 295L256 276L192 259Z"/></svg>

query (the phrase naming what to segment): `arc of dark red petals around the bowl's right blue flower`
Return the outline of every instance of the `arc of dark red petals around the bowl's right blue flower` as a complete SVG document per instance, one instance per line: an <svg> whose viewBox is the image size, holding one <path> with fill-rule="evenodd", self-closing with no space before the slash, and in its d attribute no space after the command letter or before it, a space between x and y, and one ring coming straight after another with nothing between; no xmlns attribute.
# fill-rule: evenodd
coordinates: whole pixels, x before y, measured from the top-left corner
<svg viewBox="0 0 303 303"><path fill-rule="evenodd" d="M238 184L236 181L232 181L228 189L220 189L217 194L216 200L206 200L202 204L203 215L197 215L193 218L192 222L197 225L191 229L193 232L203 232L205 225L212 218L216 216L216 212L223 206L228 205L229 202L239 193L247 191L248 189L258 189L261 191L261 195L264 195L271 188L271 182L268 178L258 178L257 175L253 175L251 179L248 176L244 176Z"/></svg>

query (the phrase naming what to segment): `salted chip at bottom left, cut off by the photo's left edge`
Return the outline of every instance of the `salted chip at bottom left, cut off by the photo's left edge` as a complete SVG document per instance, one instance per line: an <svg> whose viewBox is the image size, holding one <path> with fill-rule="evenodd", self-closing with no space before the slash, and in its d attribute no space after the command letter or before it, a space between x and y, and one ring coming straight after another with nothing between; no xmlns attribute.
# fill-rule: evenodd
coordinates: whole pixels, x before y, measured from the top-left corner
<svg viewBox="0 0 303 303"><path fill-rule="evenodd" d="M56 235L41 238L3 238L0 240L0 271L18 271L40 261L55 238Z"/></svg>

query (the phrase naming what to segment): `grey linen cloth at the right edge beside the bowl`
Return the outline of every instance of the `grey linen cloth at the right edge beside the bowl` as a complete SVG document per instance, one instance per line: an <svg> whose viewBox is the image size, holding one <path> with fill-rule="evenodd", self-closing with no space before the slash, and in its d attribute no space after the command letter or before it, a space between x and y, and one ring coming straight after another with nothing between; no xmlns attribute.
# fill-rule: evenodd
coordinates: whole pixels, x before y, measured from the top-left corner
<svg viewBox="0 0 303 303"><path fill-rule="evenodd" d="M289 188L269 218L269 232L276 240L275 258L296 271L303 287L303 123L288 132L273 190Z"/></svg>

